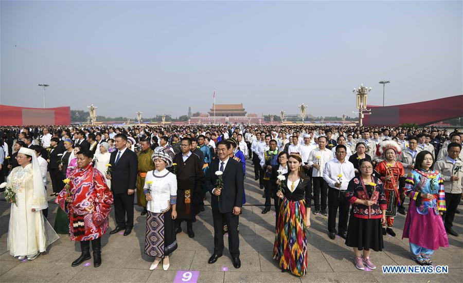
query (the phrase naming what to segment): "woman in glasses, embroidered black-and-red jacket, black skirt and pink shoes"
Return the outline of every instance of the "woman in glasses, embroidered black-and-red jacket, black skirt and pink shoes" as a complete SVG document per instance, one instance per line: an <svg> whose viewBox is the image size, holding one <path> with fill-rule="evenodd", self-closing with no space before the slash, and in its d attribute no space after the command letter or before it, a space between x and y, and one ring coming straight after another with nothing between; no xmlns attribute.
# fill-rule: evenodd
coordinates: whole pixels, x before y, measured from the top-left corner
<svg viewBox="0 0 463 283"><path fill-rule="evenodd" d="M352 203L352 210L346 246L354 250L355 267L360 270L376 269L369 255L370 249L378 252L384 248L382 224L386 223L387 200L383 183L372 176L371 161L365 159L361 161L360 173L350 180L347 186L346 199Z"/></svg>

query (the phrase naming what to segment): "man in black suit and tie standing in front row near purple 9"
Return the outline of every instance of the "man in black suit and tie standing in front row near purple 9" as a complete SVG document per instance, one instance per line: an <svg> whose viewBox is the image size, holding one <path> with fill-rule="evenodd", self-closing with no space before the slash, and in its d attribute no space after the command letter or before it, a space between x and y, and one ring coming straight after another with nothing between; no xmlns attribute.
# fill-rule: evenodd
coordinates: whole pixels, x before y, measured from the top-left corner
<svg viewBox="0 0 463 283"><path fill-rule="evenodd" d="M223 253L223 220L228 227L228 250L231 254L233 266L241 267L240 261L240 241L238 238L238 221L241 212L244 174L243 166L240 162L230 158L229 150L231 145L225 141L217 144L218 159L211 162L209 178L213 184L211 191L211 208L214 223L214 253L209 258L208 263L217 261ZM217 171L222 171L224 187L216 187L218 176Z"/></svg>

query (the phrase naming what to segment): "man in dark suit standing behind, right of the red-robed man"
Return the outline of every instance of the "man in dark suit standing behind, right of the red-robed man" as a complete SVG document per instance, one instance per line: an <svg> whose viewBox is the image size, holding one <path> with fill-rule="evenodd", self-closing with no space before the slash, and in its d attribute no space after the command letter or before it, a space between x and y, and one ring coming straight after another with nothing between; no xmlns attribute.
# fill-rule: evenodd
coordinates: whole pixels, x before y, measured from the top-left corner
<svg viewBox="0 0 463 283"><path fill-rule="evenodd" d="M117 150L111 153L111 191L114 198L114 214L116 216L116 229L110 234L124 230L124 236L129 235L133 228L133 201L135 184L137 180L138 158L128 149L127 136L117 134L114 138ZM127 215L127 220L126 220Z"/></svg>

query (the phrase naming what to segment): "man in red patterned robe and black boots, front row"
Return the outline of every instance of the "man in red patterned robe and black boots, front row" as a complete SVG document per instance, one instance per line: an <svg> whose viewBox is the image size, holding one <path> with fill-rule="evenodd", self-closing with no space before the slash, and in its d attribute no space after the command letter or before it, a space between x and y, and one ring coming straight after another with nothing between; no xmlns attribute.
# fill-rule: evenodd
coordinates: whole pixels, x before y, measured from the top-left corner
<svg viewBox="0 0 463 283"><path fill-rule="evenodd" d="M71 240L80 241L82 254L72 266L90 259L92 241L93 265L101 265L101 236L108 230L108 215L113 204L113 194L106 185L103 174L91 164L93 153L82 150L77 154L77 166L69 175L68 186L60 192L55 202L69 217Z"/></svg>

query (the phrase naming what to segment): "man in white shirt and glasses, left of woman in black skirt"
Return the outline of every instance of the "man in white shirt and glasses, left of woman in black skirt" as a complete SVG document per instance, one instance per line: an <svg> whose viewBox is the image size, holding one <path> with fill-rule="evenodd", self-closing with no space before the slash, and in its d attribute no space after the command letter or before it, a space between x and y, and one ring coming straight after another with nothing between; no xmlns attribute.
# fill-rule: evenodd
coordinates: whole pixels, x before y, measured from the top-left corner
<svg viewBox="0 0 463 283"><path fill-rule="evenodd" d="M336 234L335 226L338 209L338 233L342 238L346 239L350 203L346 200L345 194L347 185L354 176L354 166L346 160L346 146L343 144L337 145L336 158L326 163L323 171L323 178L328 183L328 232L332 240L334 240Z"/></svg>

